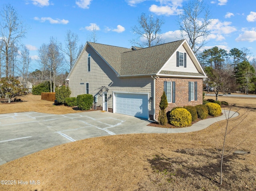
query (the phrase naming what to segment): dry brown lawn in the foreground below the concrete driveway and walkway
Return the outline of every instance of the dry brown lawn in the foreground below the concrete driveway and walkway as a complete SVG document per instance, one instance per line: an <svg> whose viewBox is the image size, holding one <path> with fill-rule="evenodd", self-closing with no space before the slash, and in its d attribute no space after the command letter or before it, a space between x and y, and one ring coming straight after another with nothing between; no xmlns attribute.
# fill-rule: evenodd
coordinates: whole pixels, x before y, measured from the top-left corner
<svg viewBox="0 0 256 191"><path fill-rule="evenodd" d="M255 104L256 99L228 100ZM241 116L246 109L239 112ZM230 120L230 127L238 124L238 118ZM248 154L232 152L224 159L222 186L217 183L217 149L221 148L224 121L199 132L98 137L43 150L0 166L0 180L39 180L40 185L0 185L0 190L253 191L255 118L256 111L252 110L228 137L227 150L243 141L236 150Z"/></svg>

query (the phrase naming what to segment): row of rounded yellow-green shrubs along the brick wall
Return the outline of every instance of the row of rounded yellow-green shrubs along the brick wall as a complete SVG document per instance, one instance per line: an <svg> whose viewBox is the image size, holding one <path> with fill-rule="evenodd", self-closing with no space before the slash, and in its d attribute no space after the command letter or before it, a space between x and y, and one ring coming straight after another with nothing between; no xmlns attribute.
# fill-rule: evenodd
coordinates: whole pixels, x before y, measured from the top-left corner
<svg viewBox="0 0 256 191"><path fill-rule="evenodd" d="M218 103L208 102L203 105L175 107L167 112L168 122L177 127L190 126L192 121L210 116L220 116L221 107Z"/></svg>

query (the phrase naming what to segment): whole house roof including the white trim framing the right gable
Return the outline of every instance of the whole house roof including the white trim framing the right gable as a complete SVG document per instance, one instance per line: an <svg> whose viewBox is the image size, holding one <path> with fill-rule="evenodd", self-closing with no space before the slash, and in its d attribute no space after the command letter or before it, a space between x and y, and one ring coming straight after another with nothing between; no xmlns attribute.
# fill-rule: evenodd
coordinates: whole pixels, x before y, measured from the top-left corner
<svg viewBox="0 0 256 191"><path fill-rule="evenodd" d="M175 53L177 49L182 45L184 45L188 55L191 57L198 73L162 71L162 68L170 57L173 55L176 56ZM132 46L129 49L87 42L84 49L88 46L92 47L92 49L94 49L94 51L115 71L117 76L120 77L134 75L182 75L206 77L200 63L185 39L147 48Z"/></svg>

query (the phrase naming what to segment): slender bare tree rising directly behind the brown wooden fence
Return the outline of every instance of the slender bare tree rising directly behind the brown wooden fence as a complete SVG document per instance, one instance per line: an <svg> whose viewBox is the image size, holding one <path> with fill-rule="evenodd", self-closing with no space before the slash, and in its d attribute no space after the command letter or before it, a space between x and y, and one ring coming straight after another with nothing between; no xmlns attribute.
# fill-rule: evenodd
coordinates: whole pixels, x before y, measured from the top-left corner
<svg viewBox="0 0 256 191"><path fill-rule="evenodd" d="M64 56L60 51L60 44L54 37L50 38L50 43L48 45L48 67L50 69L50 89L55 92L56 87L56 76L64 60Z"/></svg>

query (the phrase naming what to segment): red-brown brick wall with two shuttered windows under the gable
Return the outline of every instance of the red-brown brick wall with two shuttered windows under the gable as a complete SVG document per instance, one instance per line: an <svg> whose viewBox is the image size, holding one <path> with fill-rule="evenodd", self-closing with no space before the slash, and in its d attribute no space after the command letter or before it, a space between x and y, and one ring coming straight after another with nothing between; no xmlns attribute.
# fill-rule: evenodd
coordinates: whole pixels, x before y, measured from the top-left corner
<svg viewBox="0 0 256 191"><path fill-rule="evenodd" d="M203 80L181 78L156 78L156 120L158 120L159 104L164 91L164 81L175 81L175 103L169 103L166 112L178 106L196 106L203 102ZM188 82L197 82L197 100L188 101Z"/></svg>

